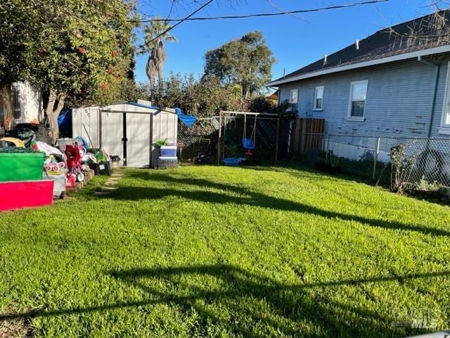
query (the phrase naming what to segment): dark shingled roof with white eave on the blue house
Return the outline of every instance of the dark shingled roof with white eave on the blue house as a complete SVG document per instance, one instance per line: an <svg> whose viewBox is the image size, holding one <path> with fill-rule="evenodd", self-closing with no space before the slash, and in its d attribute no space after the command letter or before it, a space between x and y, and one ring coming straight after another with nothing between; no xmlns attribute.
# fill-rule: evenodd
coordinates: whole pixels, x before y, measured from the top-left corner
<svg viewBox="0 0 450 338"><path fill-rule="evenodd" d="M269 82L268 86L302 80L326 73L364 67L371 61L395 61L404 54L433 49L436 53L446 51L439 47L450 45L450 10L439 11L406 23L394 25L375 32L366 39L356 40L340 51L324 56L295 72ZM417 56L420 56L420 53ZM430 54L435 54L431 53ZM416 57L413 55L412 57ZM383 62L378 62L383 63ZM347 67L346 67L347 66Z"/></svg>

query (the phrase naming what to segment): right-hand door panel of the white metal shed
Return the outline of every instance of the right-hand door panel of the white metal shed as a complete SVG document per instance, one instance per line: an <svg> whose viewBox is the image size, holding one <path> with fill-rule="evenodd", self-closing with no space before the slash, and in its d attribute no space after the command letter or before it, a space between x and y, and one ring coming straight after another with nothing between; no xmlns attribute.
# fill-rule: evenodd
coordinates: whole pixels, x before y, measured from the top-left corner
<svg viewBox="0 0 450 338"><path fill-rule="evenodd" d="M127 114L127 166L150 166L150 115Z"/></svg>

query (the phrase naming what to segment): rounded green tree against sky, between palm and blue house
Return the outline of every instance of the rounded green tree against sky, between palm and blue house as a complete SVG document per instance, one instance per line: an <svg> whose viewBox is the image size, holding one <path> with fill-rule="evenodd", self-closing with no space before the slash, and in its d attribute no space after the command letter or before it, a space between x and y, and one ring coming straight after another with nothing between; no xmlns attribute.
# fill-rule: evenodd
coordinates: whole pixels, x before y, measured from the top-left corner
<svg viewBox="0 0 450 338"><path fill-rule="evenodd" d="M238 84L241 98L249 99L271 79L274 56L262 32L249 32L205 55L205 76L223 84Z"/></svg>

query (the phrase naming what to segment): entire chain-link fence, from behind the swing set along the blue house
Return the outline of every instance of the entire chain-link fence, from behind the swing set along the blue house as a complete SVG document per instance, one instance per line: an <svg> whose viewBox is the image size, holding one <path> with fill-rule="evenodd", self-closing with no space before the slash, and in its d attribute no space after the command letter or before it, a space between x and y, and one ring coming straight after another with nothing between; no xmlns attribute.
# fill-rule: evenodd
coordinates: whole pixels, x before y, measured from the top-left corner
<svg viewBox="0 0 450 338"><path fill-rule="evenodd" d="M220 158L243 156L243 128L249 135L254 126L252 121L245 125L243 118L224 118ZM274 161L276 128L276 119L257 120L257 158ZM281 118L278 128L278 159L298 157L304 165L354 175L397 191L450 187L450 138L295 134L292 118ZM219 116L199 118L191 127L179 123L178 130L182 161L217 163Z"/></svg>

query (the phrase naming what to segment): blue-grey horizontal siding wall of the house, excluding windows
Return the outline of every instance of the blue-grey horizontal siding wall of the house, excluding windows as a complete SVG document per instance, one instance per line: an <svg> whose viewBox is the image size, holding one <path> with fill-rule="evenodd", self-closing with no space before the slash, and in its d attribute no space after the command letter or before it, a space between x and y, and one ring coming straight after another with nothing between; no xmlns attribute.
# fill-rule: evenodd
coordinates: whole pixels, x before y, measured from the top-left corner
<svg viewBox="0 0 450 338"><path fill-rule="evenodd" d="M439 69L431 137L442 137L438 128L446 85L449 56L439 58ZM350 84L368 80L364 121L347 120ZM315 87L324 86L323 111L314 111ZM300 117L324 118L329 134L427 137L430 106L435 87L435 67L416 59L349 70L281 84L280 101L298 89L295 109Z"/></svg>

